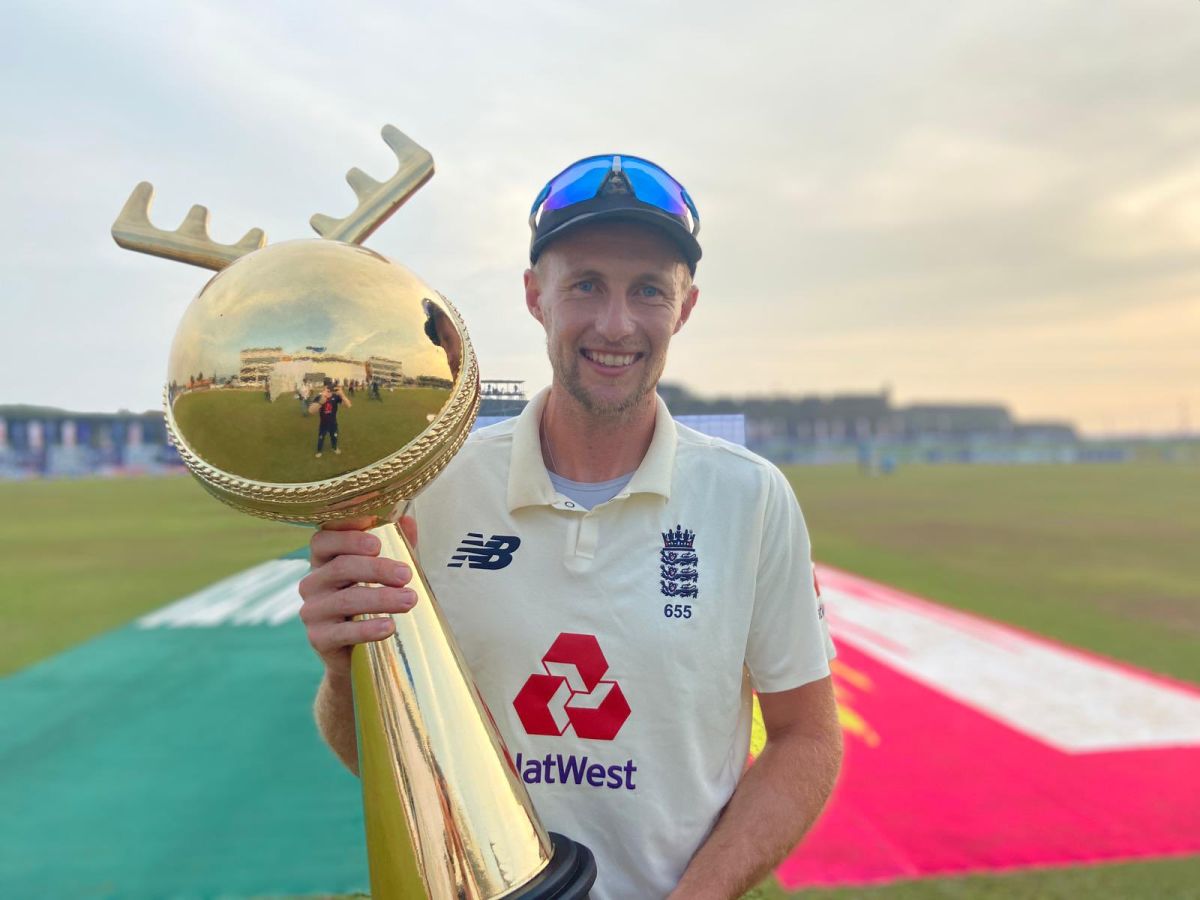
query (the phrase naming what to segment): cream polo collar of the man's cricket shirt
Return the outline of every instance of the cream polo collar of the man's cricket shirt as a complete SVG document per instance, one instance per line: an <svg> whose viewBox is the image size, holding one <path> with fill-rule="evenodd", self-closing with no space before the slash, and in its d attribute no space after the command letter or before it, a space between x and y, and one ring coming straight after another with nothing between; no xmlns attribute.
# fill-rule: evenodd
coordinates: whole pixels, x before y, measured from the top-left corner
<svg viewBox="0 0 1200 900"><path fill-rule="evenodd" d="M509 461L509 511L522 506L548 506L558 498L550 482L546 463L541 457L539 425L541 410L550 397L550 388L540 390L517 416L512 430L512 457ZM641 464L620 496L656 493L671 499L671 481L674 475L676 448L679 437L674 419L662 397L655 394L654 436Z"/></svg>

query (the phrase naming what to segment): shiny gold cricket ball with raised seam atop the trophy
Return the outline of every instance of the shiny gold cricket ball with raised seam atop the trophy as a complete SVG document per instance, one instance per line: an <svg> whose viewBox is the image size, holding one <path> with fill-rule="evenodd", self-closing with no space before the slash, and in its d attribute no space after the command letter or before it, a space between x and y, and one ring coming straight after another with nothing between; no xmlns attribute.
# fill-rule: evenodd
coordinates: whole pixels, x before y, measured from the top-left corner
<svg viewBox="0 0 1200 900"><path fill-rule="evenodd" d="M478 371L462 319L421 278L353 244L257 250L188 306L167 420L205 487L316 523L414 494L466 438Z"/></svg>

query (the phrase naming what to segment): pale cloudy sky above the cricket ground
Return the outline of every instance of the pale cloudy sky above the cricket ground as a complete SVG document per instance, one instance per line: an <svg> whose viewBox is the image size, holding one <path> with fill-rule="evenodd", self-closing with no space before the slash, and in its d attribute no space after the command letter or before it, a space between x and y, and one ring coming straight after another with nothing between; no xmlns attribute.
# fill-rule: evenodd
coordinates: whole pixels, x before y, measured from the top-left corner
<svg viewBox="0 0 1200 900"><path fill-rule="evenodd" d="M695 198L701 395L998 402L1200 431L1200 2L16 2L0 34L0 404L150 409L206 274L121 251L211 211L314 236L437 175L367 246L463 313L485 378L550 378L533 197L596 152Z"/></svg>

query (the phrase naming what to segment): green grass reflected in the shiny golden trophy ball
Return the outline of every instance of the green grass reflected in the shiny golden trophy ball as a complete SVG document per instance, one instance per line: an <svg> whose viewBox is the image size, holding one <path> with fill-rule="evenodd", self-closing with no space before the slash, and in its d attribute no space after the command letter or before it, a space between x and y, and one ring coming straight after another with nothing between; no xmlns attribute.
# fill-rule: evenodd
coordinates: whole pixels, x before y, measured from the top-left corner
<svg viewBox="0 0 1200 900"><path fill-rule="evenodd" d="M420 434L450 394L437 388L383 391L382 401L359 391L337 414L341 454L325 439L316 458L320 418L305 415L294 397L275 402L262 391L212 390L175 400L175 420L206 462L242 478L271 484L322 481L361 469Z"/></svg>

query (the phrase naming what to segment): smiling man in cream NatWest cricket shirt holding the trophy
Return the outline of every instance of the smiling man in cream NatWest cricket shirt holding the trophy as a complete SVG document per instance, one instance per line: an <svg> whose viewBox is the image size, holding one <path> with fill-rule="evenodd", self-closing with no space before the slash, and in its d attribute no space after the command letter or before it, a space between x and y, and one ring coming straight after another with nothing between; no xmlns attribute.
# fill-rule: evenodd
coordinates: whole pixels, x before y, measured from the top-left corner
<svg viewBox="0 0 1200 900"><path fill-rule="evenodd" d="M774 466L678 426L655 394L698 296L678 182L635 157L582 160L530 227L526 306L552 385L474 434L401 526L420 528L542 821L595 853L592 896L740 896L815 821L841 758L804 521ZM346 616L414 602L377 552L319 532L301 582L325 664L317 719L352 769L349 647L394 625ZM744 770L751 688L767 744Z"/></svg>

